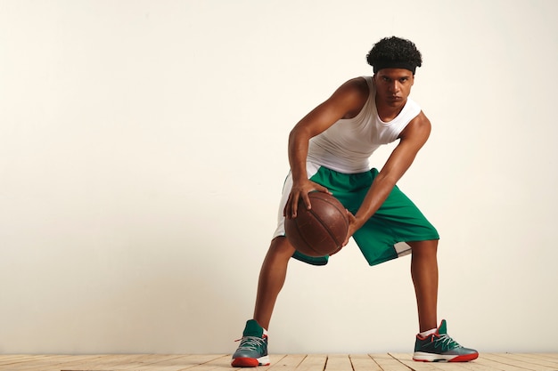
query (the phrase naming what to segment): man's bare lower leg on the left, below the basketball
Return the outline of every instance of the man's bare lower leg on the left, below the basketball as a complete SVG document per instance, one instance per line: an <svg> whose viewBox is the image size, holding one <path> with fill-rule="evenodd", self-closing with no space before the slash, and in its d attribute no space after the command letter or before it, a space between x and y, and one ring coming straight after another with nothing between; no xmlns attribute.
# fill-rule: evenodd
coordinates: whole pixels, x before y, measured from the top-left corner
<svg viewBox="0 0 558 371"><path fill-rule="evenodd" d="M294 254L294 247L287 238L277 237L271 241L266 259L262 263L254 319L258 321L259 326L266 329L269 328L277 296L283 288L287 276L287 265L292 254Z"/></svg>

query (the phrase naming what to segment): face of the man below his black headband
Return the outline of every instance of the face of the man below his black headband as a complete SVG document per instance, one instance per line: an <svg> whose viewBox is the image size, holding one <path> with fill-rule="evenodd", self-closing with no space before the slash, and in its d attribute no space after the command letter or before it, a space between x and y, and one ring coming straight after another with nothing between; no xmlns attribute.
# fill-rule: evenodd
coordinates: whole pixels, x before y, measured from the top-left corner
<svg viewBox="0 0 558 371"><path fill-rule="evenodd" d="M414 76L408 69L380 69L373 81L376 85L376 102L397 107L405 104L414 84Z"/></svg>

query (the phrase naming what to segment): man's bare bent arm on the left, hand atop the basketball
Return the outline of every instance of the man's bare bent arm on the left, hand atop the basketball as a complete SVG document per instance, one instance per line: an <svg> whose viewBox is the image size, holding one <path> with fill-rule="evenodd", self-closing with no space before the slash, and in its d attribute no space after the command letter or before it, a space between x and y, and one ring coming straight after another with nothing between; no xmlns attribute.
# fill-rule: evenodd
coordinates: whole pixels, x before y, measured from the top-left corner
<svg viewBox="0 0 558 371"><path fill-rule="evenodd" d="M312 190L327 190L313 181L308 180L306 161L308 156L308 142L310 138L324 132L341 118L357 116L368 98L368 86L362 78L349 80L341 85L335 93L322 104L303 117L294 126L289 135L289 164L292 173L292 190L284 214L289 218L297 215L299 199L304 200L310 208L308 192Z"/></svg>

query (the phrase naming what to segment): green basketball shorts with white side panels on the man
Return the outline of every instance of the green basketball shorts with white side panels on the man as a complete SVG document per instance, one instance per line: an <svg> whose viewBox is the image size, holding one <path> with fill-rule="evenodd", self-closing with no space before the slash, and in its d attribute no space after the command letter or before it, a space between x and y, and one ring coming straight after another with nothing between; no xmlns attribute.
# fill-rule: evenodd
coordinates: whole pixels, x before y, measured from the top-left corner
<svg viewBox="0 0 558 371"><path fill-rule="evenodd" d="M324 166L308 164L310 180L330 190L352 214L357 214L377 175L376 169L365 173L339 173ZM283 189L284 202L280 206L275 236L284 236L284 219L283 222L281 219L286 203L285 193L286 197L291 193L289 177ZM409 254L410 246L399 244L401 242L439 239L439 234L423 213L396 186L378 211L355 232L353 238L368 264L376 265ZM324 265L328 261L328 256L315 258L299 252L295 252L292 257L314 265Z"/></svg>

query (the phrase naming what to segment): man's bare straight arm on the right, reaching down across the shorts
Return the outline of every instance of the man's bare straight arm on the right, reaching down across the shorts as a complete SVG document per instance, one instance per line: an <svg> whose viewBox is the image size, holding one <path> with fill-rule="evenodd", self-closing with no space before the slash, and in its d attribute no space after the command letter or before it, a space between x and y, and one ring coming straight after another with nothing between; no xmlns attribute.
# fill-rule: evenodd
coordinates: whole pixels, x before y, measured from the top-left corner
<svg viewBox="0 0 558 371"><path fill-rule="evenodd" d="M391 190L401 179L407 169L413 164L414 157L428 140L431 133L431 123L421 112L406 125L399 135L399 144L391 152L382 171L376 176L372 187L355 215L356 219L349 225L349 234L343 245L349 242L350 236L364 225L370 217L382 206L390 195Z"/></svg>

